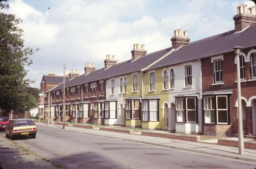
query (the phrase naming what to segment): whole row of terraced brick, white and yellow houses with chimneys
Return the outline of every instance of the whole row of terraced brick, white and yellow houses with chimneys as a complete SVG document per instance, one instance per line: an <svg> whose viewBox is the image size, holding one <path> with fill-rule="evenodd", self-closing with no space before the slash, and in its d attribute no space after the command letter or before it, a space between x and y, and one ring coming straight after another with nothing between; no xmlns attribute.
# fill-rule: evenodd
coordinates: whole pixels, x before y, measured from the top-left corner
<svg viewBox="0 0 256 169"><path fill-rule="evenodd" d="M84 74L44 75L39 116L54 121L167 129L176 133L238 133L236 55L241 46L244 134L256 135L255 7L237 7L235 30L195 42L174 30L172 47L147 54L134 44L131 59L105 67L86 63ZM170 45L171 46L171 45ZM65 92L65 98L63 98ZM62 107L65 99L65 111ZM50 109L48 109L50 104Z"/></svg>

